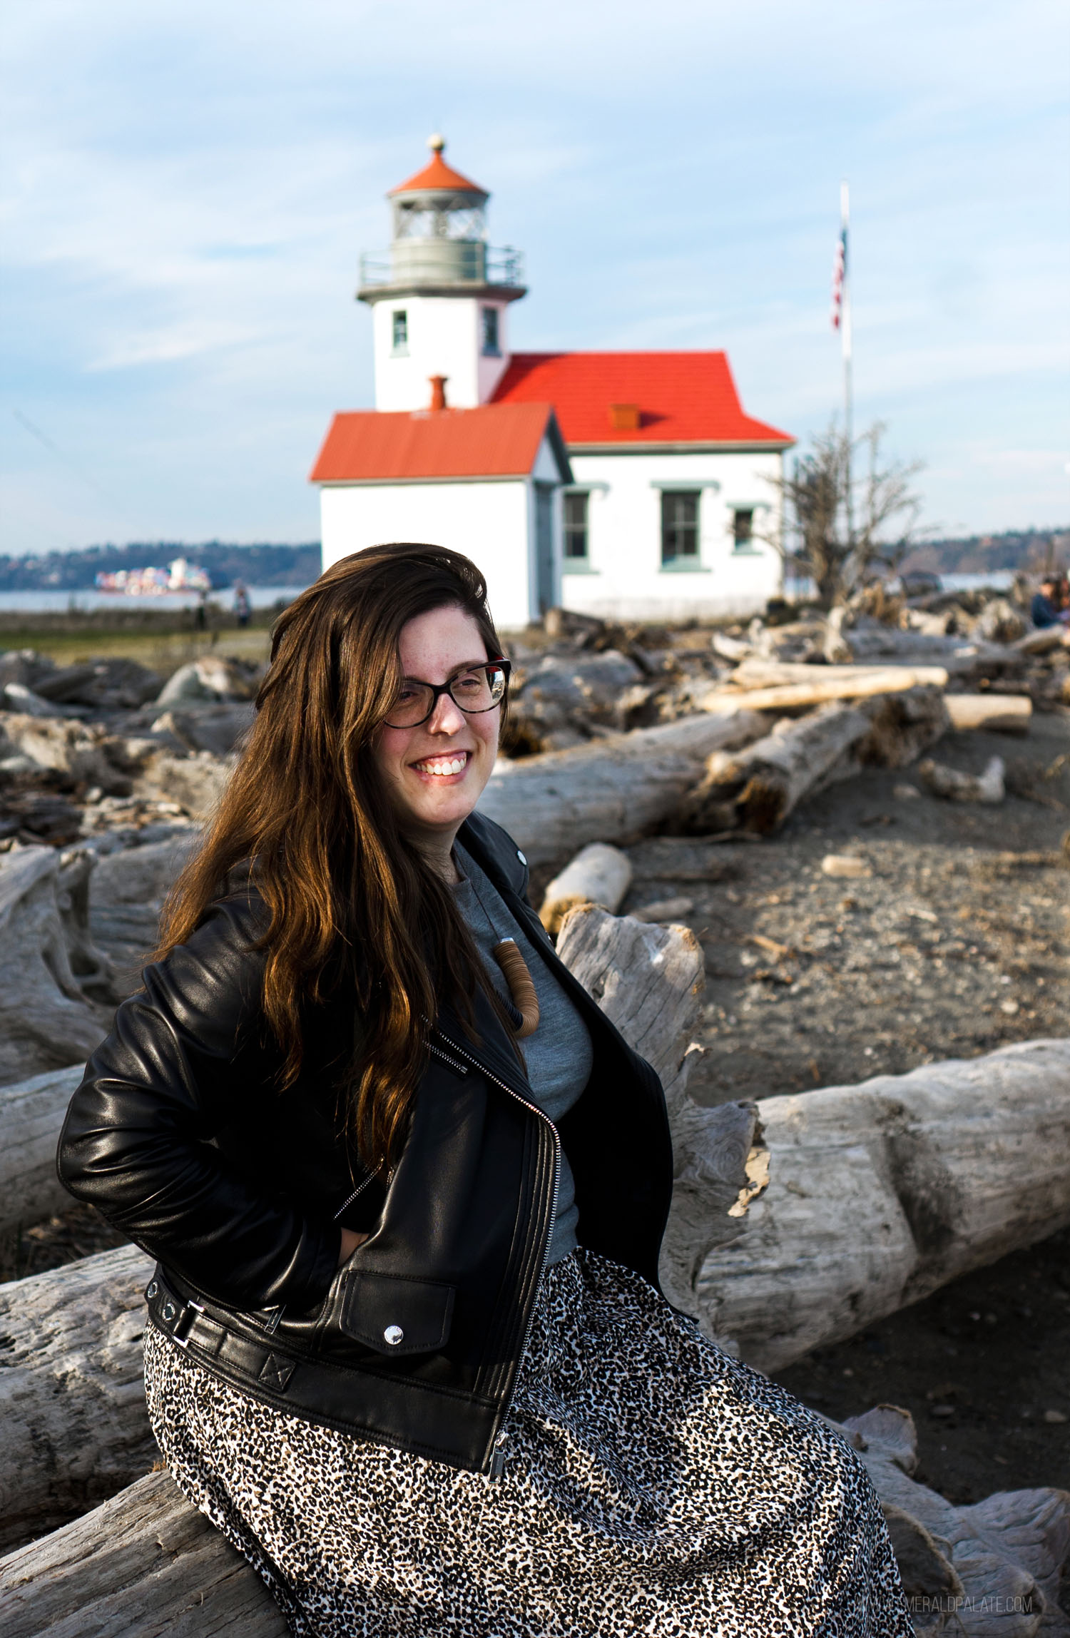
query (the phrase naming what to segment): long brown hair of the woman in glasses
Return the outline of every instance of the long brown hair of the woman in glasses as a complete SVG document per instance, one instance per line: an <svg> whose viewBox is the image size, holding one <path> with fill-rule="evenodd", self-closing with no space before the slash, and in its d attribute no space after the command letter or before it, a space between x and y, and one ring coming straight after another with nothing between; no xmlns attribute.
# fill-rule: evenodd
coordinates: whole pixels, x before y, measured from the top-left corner
<svg viewBox="0 0 1070 1638"><path fill-rule="evenodd" d="M472 1030L480 984L506 1019L447 885L390 821L372 755L401 683L401 627L447 606L472 616L488 658L501 654L483 577L441 545L354 552L279 616L254 724L167 899L156 952L184 943L247 867L270 911L262 1006L279 1084L300 1075L308 1009L352 986L360 1030L342 1089L369 1166L388 1165L403 1142L439 1002Z"/></svg>

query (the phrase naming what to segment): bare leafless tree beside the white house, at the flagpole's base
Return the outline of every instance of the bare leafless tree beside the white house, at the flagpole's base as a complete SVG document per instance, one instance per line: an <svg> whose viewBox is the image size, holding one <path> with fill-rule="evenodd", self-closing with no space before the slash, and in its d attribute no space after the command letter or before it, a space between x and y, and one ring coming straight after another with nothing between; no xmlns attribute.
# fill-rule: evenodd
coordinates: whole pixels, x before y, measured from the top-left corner
<svg viewBox="0 0 1070 1638"><path fill-rule="evenodd" d="M832 421L826 432L814 434L790 477L768 480L782 500L783 532L765 539L785 557L801 560L826 609L846 603L878 570L895 568L916 531L921 498L911 478L921 462L883 465L883 432L875 421L850 442ZM855 452L865 452L865 460ZM860 468L862 477L852 478Z"/></svg>

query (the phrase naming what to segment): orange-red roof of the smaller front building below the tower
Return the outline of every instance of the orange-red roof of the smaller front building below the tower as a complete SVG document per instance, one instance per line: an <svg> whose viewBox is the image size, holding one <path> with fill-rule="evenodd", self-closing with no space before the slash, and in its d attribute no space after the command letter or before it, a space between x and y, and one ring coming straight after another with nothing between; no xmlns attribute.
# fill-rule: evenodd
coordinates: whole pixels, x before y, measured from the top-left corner
<svg viewBox="0 0 1070 1638"><path fill-rule="evenodd" d="M310 482L519 478L534 467L547 434L567 480L569 457L546 401L478 410L351 410L331 421Z"/></svg>

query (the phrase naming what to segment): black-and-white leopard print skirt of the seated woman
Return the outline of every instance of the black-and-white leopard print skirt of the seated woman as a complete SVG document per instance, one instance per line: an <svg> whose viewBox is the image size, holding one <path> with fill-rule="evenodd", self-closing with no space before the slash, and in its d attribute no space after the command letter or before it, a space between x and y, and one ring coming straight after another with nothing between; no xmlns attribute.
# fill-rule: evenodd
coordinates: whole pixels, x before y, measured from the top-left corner
<svg viewBox="0 0 1070 1638"><path fill-rule="evenodd" d="M283 1415L152 1325L146 1384L302 1638L913 1638L855 1451L590 1251L542 1279L501 1479Z"/></svg>

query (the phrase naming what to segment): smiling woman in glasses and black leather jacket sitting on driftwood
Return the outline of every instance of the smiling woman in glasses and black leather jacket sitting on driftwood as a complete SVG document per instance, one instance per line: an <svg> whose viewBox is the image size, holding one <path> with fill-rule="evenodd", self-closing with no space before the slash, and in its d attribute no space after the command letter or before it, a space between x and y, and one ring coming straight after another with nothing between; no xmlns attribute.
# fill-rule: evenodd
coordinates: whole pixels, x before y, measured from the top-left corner
<svg viewBox="0 0 1070 1638"><path fill-rule="evenodd" d="M854 1451L659 1294L660 1084L475 812L508 670L441 547L290 604L70 1104L167 1466L293 1633L906 1638Z"/></svg>

